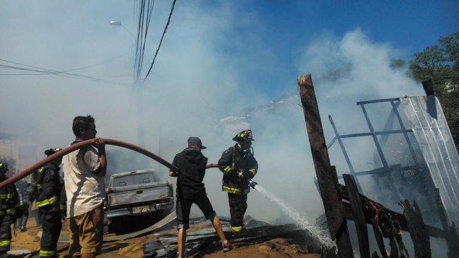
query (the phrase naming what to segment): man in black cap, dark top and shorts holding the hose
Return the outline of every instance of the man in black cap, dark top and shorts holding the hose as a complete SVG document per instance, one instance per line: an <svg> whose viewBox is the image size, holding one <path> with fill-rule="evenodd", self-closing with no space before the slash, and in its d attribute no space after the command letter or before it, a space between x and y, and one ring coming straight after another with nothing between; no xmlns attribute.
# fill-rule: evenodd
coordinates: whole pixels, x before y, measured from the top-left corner
<svg viewBox="0 0 459 258"><path fill-rule="evenodd" d="M232 249L232 245L226 240L219 218L212 208L212 204L207 197L206 188L202 180L206 173L207 158L202 155L201 140L197 137L188 139L188 148L175 155L172 162L179 172L169 171L171 177L177 179L177 228L178 228L178 257L185 257L185 243L187 242L187 229L190 228L190 208L196 204L201 209L204 216L209 219L215 228L216 233L222 242L223 252Z"/></svg>

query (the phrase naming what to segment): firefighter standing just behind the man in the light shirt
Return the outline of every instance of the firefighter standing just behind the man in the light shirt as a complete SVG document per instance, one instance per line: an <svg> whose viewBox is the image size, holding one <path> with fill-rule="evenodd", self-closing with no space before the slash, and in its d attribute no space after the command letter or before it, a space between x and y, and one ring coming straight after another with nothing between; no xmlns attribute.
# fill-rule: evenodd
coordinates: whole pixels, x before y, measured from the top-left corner
<svg viewBox="0 0 459 258"><path fill-rule="evenodd" d="M45 155L51 156L61 148L50 148ZM64 180L59 175L59 165L62 158L47 163L37 171L37 202L42 223L42 240L40 242L40 257L57 258L57 240L62 229L62 211L65 209L66 198Z"/></svg>

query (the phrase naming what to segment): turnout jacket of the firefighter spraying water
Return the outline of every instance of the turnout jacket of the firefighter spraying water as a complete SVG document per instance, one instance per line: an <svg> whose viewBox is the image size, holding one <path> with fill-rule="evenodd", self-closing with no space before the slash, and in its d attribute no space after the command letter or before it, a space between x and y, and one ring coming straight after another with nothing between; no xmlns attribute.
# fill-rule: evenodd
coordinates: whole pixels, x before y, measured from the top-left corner
<svg viewBox="0 0 459 258"><path fill-rule="evenodd" d="M248 194L250 192L248 180L257 175L258 163L250 151L244 153L236 143L221 154L219 169L223 172L223 192ZM238 176L239 172L242 172L242 178Z"/></svg>

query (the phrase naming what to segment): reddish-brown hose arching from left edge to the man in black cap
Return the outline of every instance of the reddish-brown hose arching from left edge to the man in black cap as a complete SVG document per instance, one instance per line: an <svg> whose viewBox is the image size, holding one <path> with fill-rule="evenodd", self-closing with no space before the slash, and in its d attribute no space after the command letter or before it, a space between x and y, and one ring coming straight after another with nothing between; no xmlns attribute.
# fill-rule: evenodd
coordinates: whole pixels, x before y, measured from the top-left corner
<svg viewBox="0 0 459 258"><path fill-rule="evenodd" d="M4 187L8 186L9 184L13 184L15 182L18 182L19 180L23 179L24 177L28 176L30 173L34 172L35 170L41 168L42 166L46 165L47 163L50 163L52 160L56 158L61 158L62 156L71 153L73 151L79 150L80 148L90 146L95 142L94 139L91 140L86 140L86 141L81 141L79 143L76 143L74 145L71 145L69 147L63 148L62 151L58 151L57 153L52 154L51 156L48 156L47 158L44 158L37 163L31 165L28 168L25 168L25 170L18 172L16 175L13 175L12 177L9 177L6 179L4 182L0 182L0 189L3 189ZM132 143L127 143L124 141L118 141L114 139L103 139L103 142L108 145L114 145L114 146L120 146L124 148L129 148L132 151L136 151L138 153L144 154L145 156L152 158L153 160L156 160L158 163L161 165L164 165L166 168L169 168L172 171L178 172L178 168L175 167L175 165L172 165L168 163L168 161L164 160L160 156L157 156L155 153L152 153L145 148L141 148L139 146L136 146Z"/></svg>

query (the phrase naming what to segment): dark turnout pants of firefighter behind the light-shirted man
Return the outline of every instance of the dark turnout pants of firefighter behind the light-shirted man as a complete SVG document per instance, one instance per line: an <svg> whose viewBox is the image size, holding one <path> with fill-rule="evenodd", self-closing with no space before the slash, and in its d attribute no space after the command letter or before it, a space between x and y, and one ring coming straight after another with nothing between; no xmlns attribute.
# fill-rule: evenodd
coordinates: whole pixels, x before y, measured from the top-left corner
<svg viewBox="0 0 459 258"><path fill-rule="evenodd" d="M50 207L40 207L38 211L42 223L40 257L57 258L57 240L62 230L61 216Z"/></svg>

